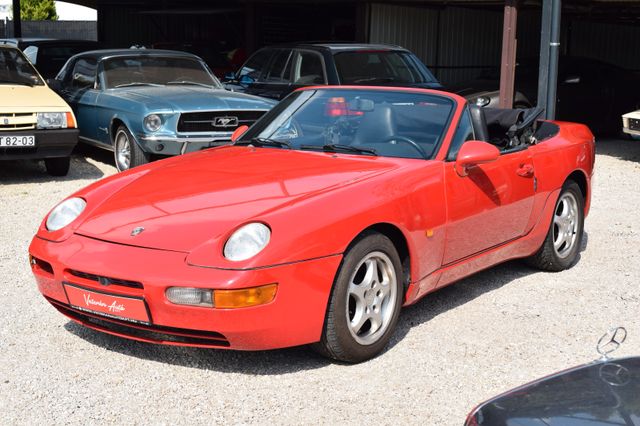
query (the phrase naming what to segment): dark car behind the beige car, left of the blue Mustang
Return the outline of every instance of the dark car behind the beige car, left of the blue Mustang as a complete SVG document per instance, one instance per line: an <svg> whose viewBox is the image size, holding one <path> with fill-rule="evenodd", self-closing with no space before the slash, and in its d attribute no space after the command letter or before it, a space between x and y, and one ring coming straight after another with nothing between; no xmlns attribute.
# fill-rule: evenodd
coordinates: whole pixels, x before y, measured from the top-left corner
<svg viewBox="0 0 640 426"><path fill-rule="evenodd" d="M3 39L0 43L11 44L22 50L45 79L55 77L73 55L100 47L97 41L47 38Z"/></svg>

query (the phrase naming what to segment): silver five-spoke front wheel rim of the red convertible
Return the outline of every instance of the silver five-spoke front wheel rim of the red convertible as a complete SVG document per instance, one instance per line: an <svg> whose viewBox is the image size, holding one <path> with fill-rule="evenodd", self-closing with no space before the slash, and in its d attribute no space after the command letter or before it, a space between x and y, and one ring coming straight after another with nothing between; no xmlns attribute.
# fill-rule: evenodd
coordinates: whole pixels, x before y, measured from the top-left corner
<svg viewBox="0 0 640 426"><path fill-rule="evenodd" d="M355 268L347 290L347 327L361 345L376 343L389 328L398 286L395 269L386 254L367 254Z"/></svg>

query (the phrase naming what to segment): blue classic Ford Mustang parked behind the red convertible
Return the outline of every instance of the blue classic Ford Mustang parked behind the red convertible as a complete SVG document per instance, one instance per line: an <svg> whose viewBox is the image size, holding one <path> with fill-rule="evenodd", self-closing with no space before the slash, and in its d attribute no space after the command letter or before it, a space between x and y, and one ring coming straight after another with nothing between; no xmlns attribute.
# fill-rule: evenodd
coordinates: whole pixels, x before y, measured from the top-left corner
<svg viewBox="0 0 640 426"><path fill-rule="evenodd" d="M50 84L73 108L80 141L112 150L119 171L228 143L275 104L225 90L199 57L169 50L81 53Z"/></svg>

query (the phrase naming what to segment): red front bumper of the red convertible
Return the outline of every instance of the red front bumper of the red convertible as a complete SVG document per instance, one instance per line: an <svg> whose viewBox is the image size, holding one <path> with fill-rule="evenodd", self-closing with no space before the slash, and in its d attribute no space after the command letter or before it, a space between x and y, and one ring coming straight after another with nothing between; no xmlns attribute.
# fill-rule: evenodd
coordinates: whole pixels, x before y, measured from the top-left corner
<svg viewBox="0 0 640 426"><path fill-rule="evenodd" d="M74 321L106 333L151 343L263 350L320 339L325 310L341 256L255 270L187 265L186 253L124 246L73 235L61 243L34 237L29 253L40 292ZM80 272L80 273L79 273ZM99 277L109 277L108 285ZM139 283L142 288L117 282ZM116 296L142 298L150 324L93 314L70 305L62 283ZM277 283L265 305L215 309L175 305L167 287L235 289Z"/></svg>

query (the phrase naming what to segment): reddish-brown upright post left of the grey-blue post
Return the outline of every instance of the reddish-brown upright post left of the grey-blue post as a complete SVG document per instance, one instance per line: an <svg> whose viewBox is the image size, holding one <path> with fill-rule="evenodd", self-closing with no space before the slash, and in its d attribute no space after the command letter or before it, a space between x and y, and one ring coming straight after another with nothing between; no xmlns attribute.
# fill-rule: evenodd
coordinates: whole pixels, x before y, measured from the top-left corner
<svg viewBox="0 0 640 426"><path fill-rule="evenodd" d="M500 108L513 107L518 40L518 0L505 0L502 26L502 61L500 66Z"/></svg>

